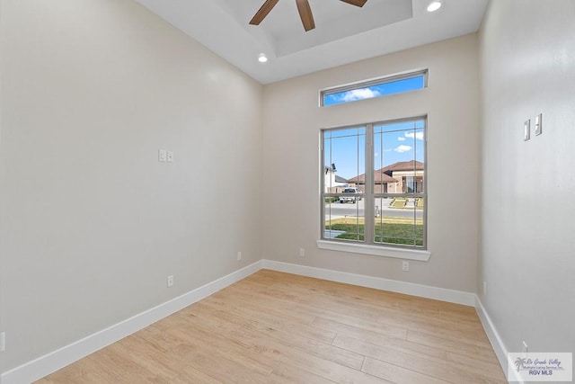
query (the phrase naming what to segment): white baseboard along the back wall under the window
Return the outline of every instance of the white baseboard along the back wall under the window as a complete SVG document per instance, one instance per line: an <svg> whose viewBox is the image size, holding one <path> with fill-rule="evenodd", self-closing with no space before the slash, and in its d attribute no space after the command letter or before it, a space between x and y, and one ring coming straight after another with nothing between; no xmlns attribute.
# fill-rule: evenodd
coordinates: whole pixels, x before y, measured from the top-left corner
<svg viewBox="0 0 575 384"><path fill-rule="evenodd" d="M420 298L436 299L471 307L475 306L475 294L463 292L461 290L446 290L444 288L430 287L429 285L414 284L412 282L389 280L349 272L332 271L305 265L280 263L271 260L263 260L263 268L273 271L299 274L307 277L315 277L323 280L345 282L348 284L358 285L360 287L375 288L376 290L391 290L392 292L419 296Z"/></svg>

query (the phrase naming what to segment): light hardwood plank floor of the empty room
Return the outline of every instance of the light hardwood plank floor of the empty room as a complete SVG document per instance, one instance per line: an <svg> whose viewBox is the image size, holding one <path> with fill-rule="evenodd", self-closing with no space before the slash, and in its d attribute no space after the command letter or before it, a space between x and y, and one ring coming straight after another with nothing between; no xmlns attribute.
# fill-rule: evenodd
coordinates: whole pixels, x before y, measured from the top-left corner
<svg viewBox="0 0 575 384"><path fill-rule="evenodd" d="M261 270L40 383L505 383L475 309Z"/></svg>

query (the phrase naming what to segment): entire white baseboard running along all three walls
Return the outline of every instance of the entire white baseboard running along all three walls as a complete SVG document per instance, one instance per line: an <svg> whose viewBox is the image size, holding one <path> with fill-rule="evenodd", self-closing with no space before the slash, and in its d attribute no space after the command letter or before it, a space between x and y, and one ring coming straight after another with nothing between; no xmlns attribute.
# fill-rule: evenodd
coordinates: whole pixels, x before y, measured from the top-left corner
<svg viewBox="0 0 575 384"><path fill-rule="evenodd" d="M292 263L280 263L271 260L260 260L252 263L243 269L232 272L216 281L199 287L190 292L184 293L180 297L166 301L155 308L150 308L134 317L130 317L114 326L102 329L93 335L84 337L75 343L66 345L57 351L48 353L40 358L22 364L11 371L6 371L0 375L2 384L22 384L39 380L50 373L57 371L66 365L76 362L83 357L94 353L103 347L117 342L118 340L131 335L138 330L154 324L156 321L167 317L174 312L186 308L191 304L204 299L209 295L222 290L236 281L258 272L262 268L279 272L288 272L302 276L314 277L328 281L338 281L360 287L374 288L377 290L390 290L398 293L418 296L427 299L438 299L442 301L463 304L477 308L479 317L485 332L491 340L493 349L500 360L501 367L507 371L507 350L500 340L495 327L491 323L490 317L482 307L481 301L474 293L459 290L446 290L443 288L430 287L427 285L414 284L405 281L394 281L373 276L366 276L356 273L332 271L322 268L314 268L305 265Z"/></svg>

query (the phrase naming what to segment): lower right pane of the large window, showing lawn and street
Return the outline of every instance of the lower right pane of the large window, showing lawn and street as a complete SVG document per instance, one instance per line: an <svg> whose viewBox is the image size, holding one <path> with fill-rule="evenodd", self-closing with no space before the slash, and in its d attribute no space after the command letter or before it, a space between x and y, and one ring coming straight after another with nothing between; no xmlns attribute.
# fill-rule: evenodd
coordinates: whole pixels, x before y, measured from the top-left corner
<svg viewBox="0 0 575 384"><path fill-rule="evenodd" d="M423 246L423 198L376 198L376 244Z"/></svg>

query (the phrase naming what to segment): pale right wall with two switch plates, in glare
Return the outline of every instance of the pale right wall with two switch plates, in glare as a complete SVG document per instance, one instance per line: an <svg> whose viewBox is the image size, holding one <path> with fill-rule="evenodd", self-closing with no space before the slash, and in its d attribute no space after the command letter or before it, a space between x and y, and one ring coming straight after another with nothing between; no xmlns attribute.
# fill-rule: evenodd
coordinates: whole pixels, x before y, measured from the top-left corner
<svg viewBox="0 0 575 384"><path fill-rule="evenodd" d="M482 23L478 283L509 352L575 347L574 20L572 0L498 0ZM543 135L523 141L540 112Z"/></svg>

